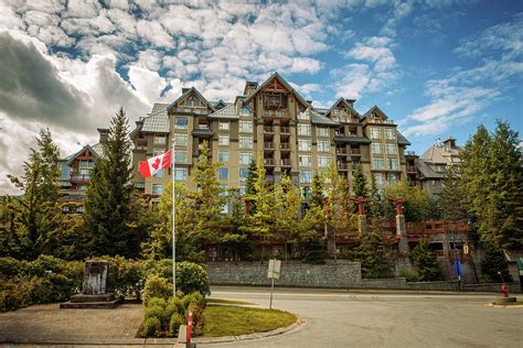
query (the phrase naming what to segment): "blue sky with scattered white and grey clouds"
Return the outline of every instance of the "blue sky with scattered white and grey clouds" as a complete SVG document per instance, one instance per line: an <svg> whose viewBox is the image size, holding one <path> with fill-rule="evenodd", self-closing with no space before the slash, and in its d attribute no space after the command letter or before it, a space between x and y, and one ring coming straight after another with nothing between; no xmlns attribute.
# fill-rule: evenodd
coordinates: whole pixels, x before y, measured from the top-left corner
<svg viewBox="0 0 523 348"><path fill-rule="evenodd" d="M316 107L377 105L423 153L523 131L523 1L0 0L0 195L35 137L63 156L182 87L233 101L278 72Z"/></svg>

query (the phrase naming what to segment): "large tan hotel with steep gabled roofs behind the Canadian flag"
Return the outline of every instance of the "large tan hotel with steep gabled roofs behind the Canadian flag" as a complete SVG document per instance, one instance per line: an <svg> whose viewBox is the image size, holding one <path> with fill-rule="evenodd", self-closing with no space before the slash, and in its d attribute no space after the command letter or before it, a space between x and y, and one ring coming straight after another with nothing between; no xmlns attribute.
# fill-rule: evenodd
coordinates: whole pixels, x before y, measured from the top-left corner
<svg viewBox="0 0 523 348"><path fill-rule="evenodd" d="M156 104L131 132L135 185L146 194L162 193L170 170L145 178L138 163L168 151L171 139L174 177L189 186L203 141L210 143L213 162L222 164L222 186L241 192L248 165L258 156L267 181L277 182L285 172L306 196L312 177L332 161L350 180L361 165L378 188L406 177L405 148L410 143L378 107L361 116L354 102L340 98L329 109L314 108L277 73L262 85L247 81L233 102L209 101L195 88L184 88L172 104Z"/></svg>

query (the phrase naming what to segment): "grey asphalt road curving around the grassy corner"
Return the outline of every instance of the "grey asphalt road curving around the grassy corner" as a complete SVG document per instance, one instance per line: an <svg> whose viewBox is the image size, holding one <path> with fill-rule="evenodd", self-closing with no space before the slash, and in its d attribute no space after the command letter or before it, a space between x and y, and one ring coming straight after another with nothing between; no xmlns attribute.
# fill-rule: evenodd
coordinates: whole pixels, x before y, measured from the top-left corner
<svg viewBox="0 0 523 348"><path fill-rule="evenodd" d="M260 340L199 347L523 347L523 308L494 294L276 289L273 307L307 323ZM268 289L213 287L215 298L268 307Z"/></svg>

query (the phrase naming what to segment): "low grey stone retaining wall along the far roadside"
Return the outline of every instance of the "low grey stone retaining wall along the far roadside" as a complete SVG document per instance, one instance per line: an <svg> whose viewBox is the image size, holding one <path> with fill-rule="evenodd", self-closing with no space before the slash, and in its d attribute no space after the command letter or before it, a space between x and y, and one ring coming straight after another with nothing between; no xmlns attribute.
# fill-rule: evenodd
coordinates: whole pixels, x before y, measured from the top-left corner
<svg viewBox="0 0 523 348"><path fill-rule="evenodd" d="M269 285L268 261L209 262L207 274L213 285ZM359 262L340 260L337 263L306 264L281 262L281 275L275 281L284 286L353 287L361 283Z"/></svg>

